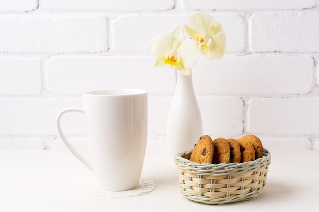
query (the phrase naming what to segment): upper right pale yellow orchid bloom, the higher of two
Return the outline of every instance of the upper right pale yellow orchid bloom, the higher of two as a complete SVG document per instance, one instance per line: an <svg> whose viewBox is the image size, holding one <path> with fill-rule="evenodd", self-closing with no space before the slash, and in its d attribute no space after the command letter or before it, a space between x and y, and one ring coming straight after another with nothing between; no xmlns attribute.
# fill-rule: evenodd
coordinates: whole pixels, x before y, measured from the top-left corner
<svg viewBox="0 0 319 212"><path fill-rule="evenodd" d="M222 25L205 12L196 12L185 25L187 34L200 46L202 54L208 59L224 56L226 35Z"/></svg>

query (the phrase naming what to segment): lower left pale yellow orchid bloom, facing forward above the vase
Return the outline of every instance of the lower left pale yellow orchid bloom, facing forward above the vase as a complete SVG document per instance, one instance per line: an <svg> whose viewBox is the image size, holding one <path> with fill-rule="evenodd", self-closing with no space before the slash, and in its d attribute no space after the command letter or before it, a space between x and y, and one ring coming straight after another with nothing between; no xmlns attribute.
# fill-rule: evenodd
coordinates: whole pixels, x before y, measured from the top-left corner
<svg viewBox="0 0 319 212"><path fill-rule="evenodd" d="M184 75L191 73L191 68L200 56L196 42L191 39L185 40L182 26L156 35L150 40L148 47L155 67L169 66Z"/></svg>

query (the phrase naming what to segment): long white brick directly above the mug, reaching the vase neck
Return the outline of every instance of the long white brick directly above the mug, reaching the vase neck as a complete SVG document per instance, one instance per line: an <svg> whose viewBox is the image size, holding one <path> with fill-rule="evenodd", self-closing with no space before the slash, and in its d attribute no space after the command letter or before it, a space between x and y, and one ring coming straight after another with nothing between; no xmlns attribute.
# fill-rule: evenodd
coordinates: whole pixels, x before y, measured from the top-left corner
<svg viewBox="0 0 319 212"><path fill-rule="evenodd" d="M106 88L172 94L175 82L175 73L154 68L149 56L57 56L48 59L46 71L48 92L66 95Z"/></svg>

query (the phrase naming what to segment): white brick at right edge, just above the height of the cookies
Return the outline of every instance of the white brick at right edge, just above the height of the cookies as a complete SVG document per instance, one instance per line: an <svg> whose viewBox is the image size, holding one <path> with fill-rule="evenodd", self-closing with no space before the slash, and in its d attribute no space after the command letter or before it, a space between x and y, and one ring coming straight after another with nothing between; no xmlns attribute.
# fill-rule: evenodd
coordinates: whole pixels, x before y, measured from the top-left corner
<svg viewBox="0 0 319 212"><path fill-rule="evenodd" d="M319 98L252 98L247 132L269 135L311 135L319 132ZM309 111L312 111L310 113Z"/></svg>

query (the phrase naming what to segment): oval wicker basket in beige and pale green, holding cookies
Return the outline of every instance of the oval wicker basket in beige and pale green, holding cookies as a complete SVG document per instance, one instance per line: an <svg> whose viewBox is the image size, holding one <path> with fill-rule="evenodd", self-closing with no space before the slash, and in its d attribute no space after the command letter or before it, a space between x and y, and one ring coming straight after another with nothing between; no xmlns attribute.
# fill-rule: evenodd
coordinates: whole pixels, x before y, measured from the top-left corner
<svg viewBox="0 0 319 212"><path fill-rule="evenodd" d="M206 204L227 204L258 197L267 179L270 153L244 163L208 164L189 161L192 150L175 156L180 192L185 198Z"/></svg>

